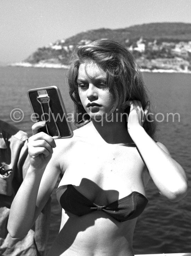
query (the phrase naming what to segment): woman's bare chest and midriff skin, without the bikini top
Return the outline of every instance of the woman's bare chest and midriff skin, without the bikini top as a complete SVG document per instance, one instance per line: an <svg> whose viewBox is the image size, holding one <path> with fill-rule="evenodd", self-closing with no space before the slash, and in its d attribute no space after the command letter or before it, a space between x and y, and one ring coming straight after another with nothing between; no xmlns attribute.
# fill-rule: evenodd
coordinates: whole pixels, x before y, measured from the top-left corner
<svg viewBox="0 0 191 256"><path fill-rule="evenodd" d="M61 140L58 142L61 147ZM147 169L134 144L108 144L76 132L58 156L64 176L59 187L72 184L91 202L107 205L132 191L145 195ZM133 255L136 219L119 222L103 211L76 216L62 211L60 232L50 255Z"/></svg>

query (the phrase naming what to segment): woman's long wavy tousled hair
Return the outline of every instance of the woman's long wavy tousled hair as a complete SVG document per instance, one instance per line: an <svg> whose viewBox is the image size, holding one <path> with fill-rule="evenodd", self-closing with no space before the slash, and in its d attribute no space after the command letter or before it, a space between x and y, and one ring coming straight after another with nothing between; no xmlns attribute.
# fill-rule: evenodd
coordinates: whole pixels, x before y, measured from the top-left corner
<svg viewBox="0 0 191 256"><path fill-rule="evenodd" d="M125 105L127 100L141 101L143 109L148 101L147 88L143 82L139 66L133 55L119 42L101 39L87 45L77 46L72 54L69 71L69 95L74 101L74 124L81 127L90 121L90 116L84 110L78 94L78 69L80 64L95 62L107 75L107 85L114 97L111 113ZM125 112L128 114L130 108ZM83 116L83 118L82 118ZM80 121L79 121L80 120ZM143 128L153 138L156 124L152 116L148 116Z"/></svg>

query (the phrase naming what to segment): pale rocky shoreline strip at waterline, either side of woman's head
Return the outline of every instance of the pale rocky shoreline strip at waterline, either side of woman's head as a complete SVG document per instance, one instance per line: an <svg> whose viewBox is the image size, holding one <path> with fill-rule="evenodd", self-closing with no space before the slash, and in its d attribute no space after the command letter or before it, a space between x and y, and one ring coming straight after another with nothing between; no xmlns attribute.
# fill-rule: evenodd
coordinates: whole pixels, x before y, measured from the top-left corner
<svg viewBox="0 0 191 256"><path fill-rule="evenodd" d="M16 63L10 63L6 66L10 67L28 67L28 68L63 68L67 69L68 65L63 65L61 63L45 63L45 62L39 62L36 64L31 64L29 62L16 62ZM175 70L175 69L140 69L141 72L150 72L150 73L183 73L183 74L191 74L191 71L189 70Z"/></svg>

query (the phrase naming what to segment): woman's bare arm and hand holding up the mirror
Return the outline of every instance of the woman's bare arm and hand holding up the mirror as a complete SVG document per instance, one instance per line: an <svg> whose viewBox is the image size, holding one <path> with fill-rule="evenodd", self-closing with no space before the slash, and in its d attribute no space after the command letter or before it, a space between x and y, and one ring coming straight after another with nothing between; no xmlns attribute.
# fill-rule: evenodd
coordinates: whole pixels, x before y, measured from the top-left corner
<svg viewBox="0 0 191 256"><path fill-rule="evenodd" d="M33 126L33 136L28 142L30 167L11 205L8 231L14 238L27 234L48 201L60 174L57 161L52 156L53 139L38 133L41 122Z"/></svg>

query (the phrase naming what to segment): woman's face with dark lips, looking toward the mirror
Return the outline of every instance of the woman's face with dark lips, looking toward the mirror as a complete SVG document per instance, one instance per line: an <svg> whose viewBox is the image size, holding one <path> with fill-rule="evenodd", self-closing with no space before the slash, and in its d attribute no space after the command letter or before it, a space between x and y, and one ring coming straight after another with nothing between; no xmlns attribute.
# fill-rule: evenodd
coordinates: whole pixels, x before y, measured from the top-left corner
<svg viewBox="0 0 191 256"><path fill-rule="evenodd" d="M78 93L91 118L104 118L113 107L114 97L107 86L107 76L95 62L82 63L78 70Z"/></svg>

